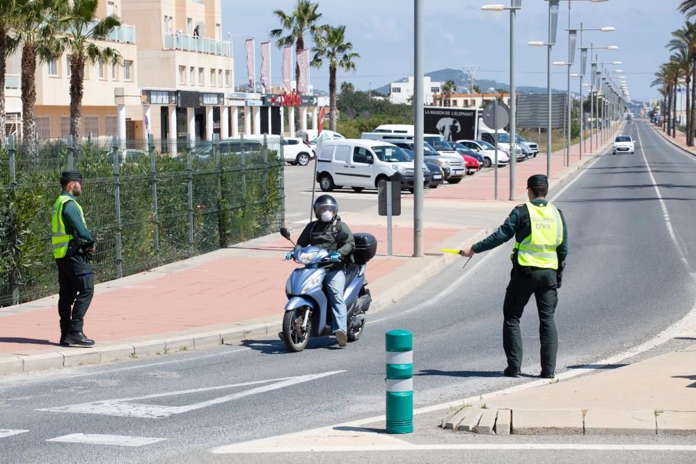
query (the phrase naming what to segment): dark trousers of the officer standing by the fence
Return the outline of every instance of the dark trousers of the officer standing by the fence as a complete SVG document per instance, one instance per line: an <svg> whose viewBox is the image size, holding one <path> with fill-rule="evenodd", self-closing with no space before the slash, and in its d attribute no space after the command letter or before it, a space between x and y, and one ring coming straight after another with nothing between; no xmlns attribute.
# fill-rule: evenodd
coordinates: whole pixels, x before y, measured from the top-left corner
<svg viewBox="0 0 696 464"><path fill-rule="evenodd" d="M84 317L94 296L94 274L82 260L77 256L56 259L62 334L82 332Z"/></svg>

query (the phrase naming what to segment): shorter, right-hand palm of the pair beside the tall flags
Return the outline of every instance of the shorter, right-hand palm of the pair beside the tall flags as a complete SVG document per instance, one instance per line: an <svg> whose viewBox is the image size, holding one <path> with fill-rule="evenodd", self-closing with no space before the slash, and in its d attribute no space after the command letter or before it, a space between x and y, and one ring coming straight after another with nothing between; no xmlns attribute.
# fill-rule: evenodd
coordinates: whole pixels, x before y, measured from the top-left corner
<svg viewBox="0 0 696 464"><path fill-rule="evenodd" d="M322 26L314 38L315 47L312 51L312 65L324 65L324 59L329 63L329 129L336 130L336 71L355 71L355 60L359 54L351 51L353 44L345 40L346 26Z"/></svg>

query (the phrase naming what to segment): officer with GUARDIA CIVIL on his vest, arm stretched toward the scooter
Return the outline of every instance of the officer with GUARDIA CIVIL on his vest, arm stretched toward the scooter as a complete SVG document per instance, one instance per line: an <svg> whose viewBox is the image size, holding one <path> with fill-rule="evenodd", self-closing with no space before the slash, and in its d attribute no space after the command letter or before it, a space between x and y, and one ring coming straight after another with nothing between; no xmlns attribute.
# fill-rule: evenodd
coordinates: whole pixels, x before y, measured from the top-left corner
<svg viewBox="0 0 696 464"><path fill-rule="evenodd" d="M558 335L553 314L558 303L557 289L568 254L568 232L563 214L546 201L548 179L532 175L527 179L529 201L512 210L505 223L489 237L461 251L472 257L491 250L516 237L510 282L503 303L503 348L507 368L503 374L519 377L522 365L520 318L534 294L539 310L541 377L553 378L556 367Z"/></svg>

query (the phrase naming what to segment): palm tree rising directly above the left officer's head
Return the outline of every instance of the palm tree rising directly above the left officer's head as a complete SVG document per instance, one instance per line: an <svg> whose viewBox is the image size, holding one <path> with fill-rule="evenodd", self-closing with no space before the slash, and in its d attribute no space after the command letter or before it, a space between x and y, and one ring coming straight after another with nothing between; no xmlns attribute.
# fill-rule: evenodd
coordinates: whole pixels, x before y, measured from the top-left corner
<svg viewBox="0 0 696 464"><path fill-rule="evenodd" d="M72 5L70 4L72 3ZM111 47L100 47L95 40L103 40L121 21L109 15L97 21L99 0L73 0L65 2L61 17L65 24L65 35L58 38L61 51L70 54L70 134L82 138L82 94L84 89L85 64L97 61L119 63L120 54Z"/></svg>

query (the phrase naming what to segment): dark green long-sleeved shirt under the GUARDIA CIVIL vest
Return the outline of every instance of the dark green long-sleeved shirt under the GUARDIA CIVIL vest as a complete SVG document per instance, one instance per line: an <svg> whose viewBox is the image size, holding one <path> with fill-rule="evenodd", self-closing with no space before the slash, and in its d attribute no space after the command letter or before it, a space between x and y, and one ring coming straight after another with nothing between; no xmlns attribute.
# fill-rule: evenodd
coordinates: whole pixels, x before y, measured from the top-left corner
<svg viewBox="0 0 696 464"><path fill-rule="evenodd" d="M536 206L547 205L548 201L538 198L532 200L532 204ZM565 261L568 255L568 227L566 226L563 213L560 209L558 212L561 215L561 221L563 223L563 241L558 248L556 248L558 263L560 264ZM483 251L492 250L496 248L496 246L503 245L503 243L512 239L512 237L515 237L515 241L523 241L529 237L530 234L532 234L532 225L527 207L525 205L518 205L512 210L510 215L507 216L505 223L498 227L496 232L493 232L482 241L474 243L471 249L474 250L475 253L481 253Z"/></svg>

